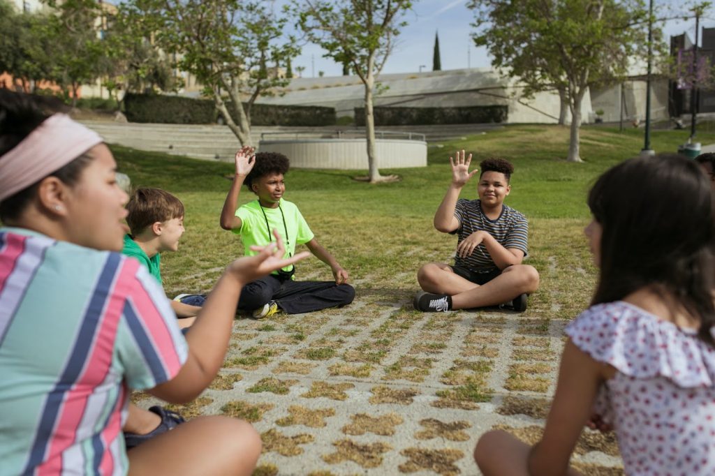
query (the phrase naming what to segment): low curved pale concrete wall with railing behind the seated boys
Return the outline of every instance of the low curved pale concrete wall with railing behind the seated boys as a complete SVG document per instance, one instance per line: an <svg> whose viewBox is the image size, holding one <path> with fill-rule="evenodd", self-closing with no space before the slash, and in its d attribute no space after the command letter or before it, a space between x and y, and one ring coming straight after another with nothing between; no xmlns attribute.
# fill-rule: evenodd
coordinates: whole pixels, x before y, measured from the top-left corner
<svg viewBox="0 0 715 476"><path fill-rule="evenodd" d="M280 152L291 167L301 169L354 170L368 168L365 139L261 139L261 152ZM375 155L380 169L427 166L427 142L376 139Z"/></svg>

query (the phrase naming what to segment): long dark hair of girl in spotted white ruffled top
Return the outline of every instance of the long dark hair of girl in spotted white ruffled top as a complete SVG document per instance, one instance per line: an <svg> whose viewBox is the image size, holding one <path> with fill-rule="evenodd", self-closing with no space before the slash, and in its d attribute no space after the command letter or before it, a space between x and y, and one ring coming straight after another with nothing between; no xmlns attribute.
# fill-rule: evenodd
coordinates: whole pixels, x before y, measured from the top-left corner
<svg viewBox="0 0 715 476"><path fill-rule="evenodd" d="M715 344L713 194L699 165L679 155L638 157L601 175L588 207L603 229L592 304L651 287L681 306Z"/></svg>

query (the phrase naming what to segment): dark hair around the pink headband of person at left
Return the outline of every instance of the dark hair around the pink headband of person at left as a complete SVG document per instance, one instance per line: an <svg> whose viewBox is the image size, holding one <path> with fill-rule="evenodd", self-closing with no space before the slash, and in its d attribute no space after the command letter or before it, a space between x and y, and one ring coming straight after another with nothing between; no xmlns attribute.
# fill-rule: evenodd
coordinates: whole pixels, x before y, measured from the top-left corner
<svg viewBox="0 0 715 476"><path fill-rule="evenodd" d="M14 149L49 116L66 110L66 106L54 97L16 93L0 88L0 157ZM91 157L83 154L49 175L72 186L91 161ZM42 179L38 180L0 202L0 219L8 222L19 217L34 197L41 181Z"/></svg>

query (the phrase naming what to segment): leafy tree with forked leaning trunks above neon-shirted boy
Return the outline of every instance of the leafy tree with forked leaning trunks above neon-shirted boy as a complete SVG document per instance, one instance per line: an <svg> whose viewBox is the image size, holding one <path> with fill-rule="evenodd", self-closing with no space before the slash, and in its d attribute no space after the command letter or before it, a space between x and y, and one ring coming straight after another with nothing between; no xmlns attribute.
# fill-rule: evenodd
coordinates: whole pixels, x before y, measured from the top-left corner
<svg viewBox="0 0 715 476"><path fill-rule="evenodd" d="M285 16L257 0L129 0L127 8L144 16L157 44L196 76L240 143L250 145L251 106L289 81L269 74L267 61L298 53L283 34Z"/></svg>

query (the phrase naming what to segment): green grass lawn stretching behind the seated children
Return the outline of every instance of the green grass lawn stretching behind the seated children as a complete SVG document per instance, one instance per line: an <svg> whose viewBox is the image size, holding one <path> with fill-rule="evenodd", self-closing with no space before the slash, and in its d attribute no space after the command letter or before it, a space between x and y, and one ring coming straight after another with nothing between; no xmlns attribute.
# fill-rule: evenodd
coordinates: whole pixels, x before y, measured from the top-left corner
<svg viewBox="0 0 715 476"><path fill-rule="evenodd" d="M656 131L652 147L676 151L686 131ZM715 133L699 134L704 144ZM530 221L529 257L541 274L541 289L531 297L525 317L571 319L588 303L596 276L582 229L588 222L586 192L598 174L638 154L643 131L583 127L583 164L566 162L568 128L508 126L488 134L430 147L428 167L383 170L401 182L370 185L351 177L364 171L295 169L287 174L286 199L295 202L317 239L351 274L358 296L408 299L417 289L415 273L428 261L449 262L455 237L432 226L433 213L450 181L448 157L455 149L485 157L504 157L515 165L506 203ZM240 238L219 227L232 164L171 157L112 147L119 170L134 187L160 187L176 194L187 209L187 232L179 252L162 257L164 287L207 292L230 259L243 252ZM365 164L367 166L367 164ZM462 197L476 197L476 179ZM255 196L244 188L240 202ZM331 279L314 257L298 264L299 279Z"/></svg>

